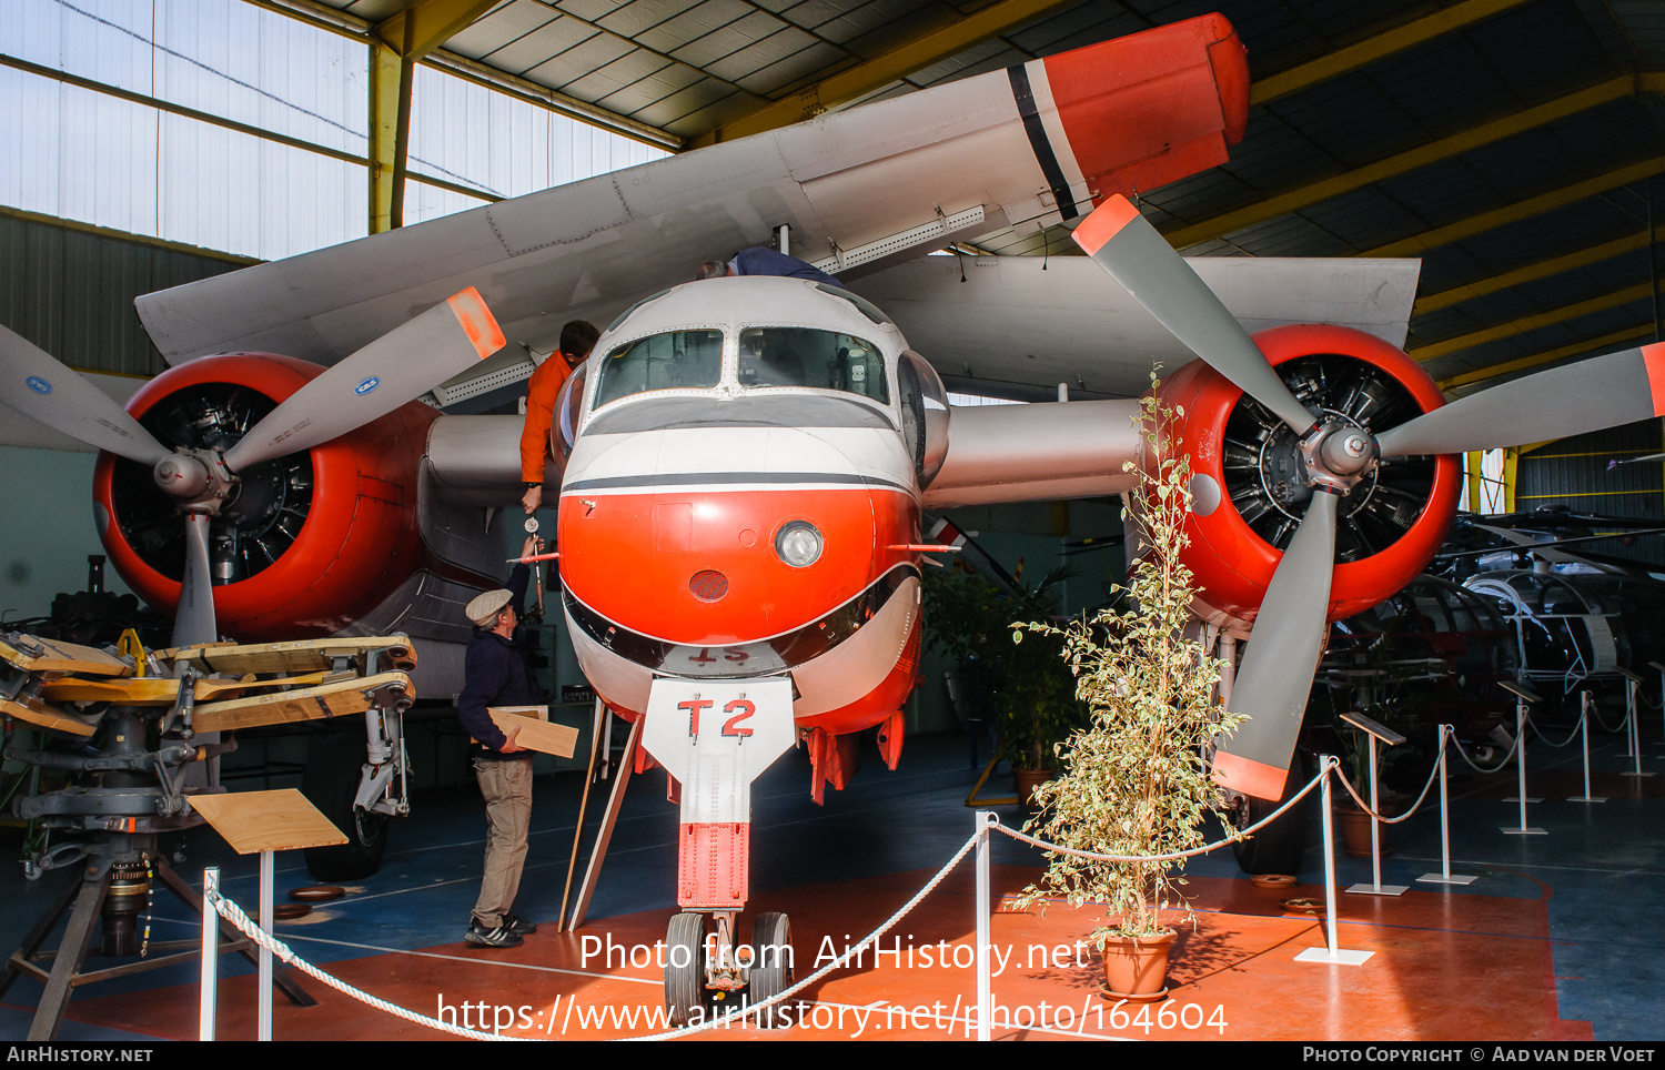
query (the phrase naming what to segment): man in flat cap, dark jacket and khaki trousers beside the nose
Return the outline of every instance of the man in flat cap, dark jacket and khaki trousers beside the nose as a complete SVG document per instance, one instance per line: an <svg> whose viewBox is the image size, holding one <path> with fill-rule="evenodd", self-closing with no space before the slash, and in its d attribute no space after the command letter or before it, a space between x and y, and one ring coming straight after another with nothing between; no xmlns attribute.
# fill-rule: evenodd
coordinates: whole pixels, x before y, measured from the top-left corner
<svg viewBox="0 0 1665 1070"><path fill-rule="evenodd" d="M521 557L541 552L541 546L536 536L528 537ZM521 937L538 930L513 914L531 825L533 752L514 742L519 729L504 736L486 712L488 706L538 706L543 701L526 659L514 647L514 624L529 577L528 566L516 564L506 587L486 591L463 611L475 632L468 639L456 717L475 739L475 777L486 799L488 822L486 875L463 939L480 947L519 947Z"/></svg>

